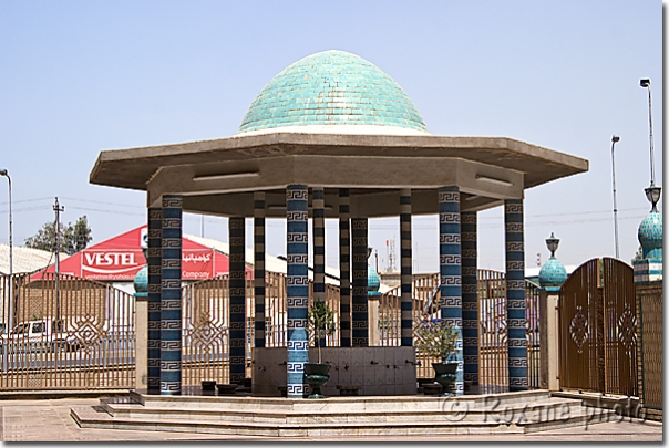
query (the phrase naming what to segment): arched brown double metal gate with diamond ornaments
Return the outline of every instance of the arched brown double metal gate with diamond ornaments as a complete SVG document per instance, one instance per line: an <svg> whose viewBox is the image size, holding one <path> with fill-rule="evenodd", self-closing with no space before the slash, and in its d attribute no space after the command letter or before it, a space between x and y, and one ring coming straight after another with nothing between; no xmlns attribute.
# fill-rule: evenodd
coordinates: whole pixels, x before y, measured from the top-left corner
<svg viewBox="0 0 669 448"><path fill-rule="evenodd" d="M611 258L581 264L559 291L563 389L638 395L634 270Z"/></svg>

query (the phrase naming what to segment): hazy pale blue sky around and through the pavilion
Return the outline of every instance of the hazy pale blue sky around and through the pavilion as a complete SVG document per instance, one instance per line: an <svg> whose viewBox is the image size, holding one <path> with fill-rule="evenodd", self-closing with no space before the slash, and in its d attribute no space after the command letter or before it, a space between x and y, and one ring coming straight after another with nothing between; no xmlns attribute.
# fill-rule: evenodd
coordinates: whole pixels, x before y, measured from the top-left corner
<svg viewBox="0 0 669 448"><path fill-rule="evenodd" d="M53 219L86 215L93 242L142 225L145 194L89 184L103 149L227 137L264 85L323 50L356 53L392 76L432 134L506 136L590 162L587 174L526 191L526 265L544 240L580 264L615 254L611 158L620 258L637 248L650 206L650 77L657 183L662 183L662 15L659 0L574 1L3 1L0 3L0 167L12 179L13 241ZM7 183L0 242L8 242ZM480 213L480 267L503 269L500 208ZM185 216L185 232L203 219ZM268 247L285 253L284 225ZM331 230L330 230L331 229ZM334 222L327 260L337 265ZM227 241L222 218L204 236ZM372 220L387 263L398 220ZM250 231L249 239L250 243ZM434 217L414 219L414 269L436 271ZM398 242L399 248L399 242Z"/></svg>

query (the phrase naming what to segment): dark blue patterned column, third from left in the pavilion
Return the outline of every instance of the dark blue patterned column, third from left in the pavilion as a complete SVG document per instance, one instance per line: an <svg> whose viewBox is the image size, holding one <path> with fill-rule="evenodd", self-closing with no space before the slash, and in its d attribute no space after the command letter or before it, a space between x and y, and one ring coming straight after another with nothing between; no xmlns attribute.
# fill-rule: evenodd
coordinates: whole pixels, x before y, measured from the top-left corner
<svg viewBox="0 0 669 448"><path fill-rule="evenodd" d="M246 376L246 278L245 219L228 219L230 239L230 384L244 383Z"/></svg>

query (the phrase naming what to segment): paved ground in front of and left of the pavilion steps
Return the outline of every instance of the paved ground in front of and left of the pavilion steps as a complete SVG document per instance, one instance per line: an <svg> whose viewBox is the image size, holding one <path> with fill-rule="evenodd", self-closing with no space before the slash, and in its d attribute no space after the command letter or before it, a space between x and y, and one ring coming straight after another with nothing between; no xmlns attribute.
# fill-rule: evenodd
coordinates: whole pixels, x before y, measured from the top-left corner
<svg viewBox="0 0 669 448"><path fill-rule="evenodd" d="M3 441L662 441L660 423L638 420L600 423L577 428L565 428L529 435L491 436L421 436L421 437L357 437L337 438L276 438L254 436L218 436L187 433L136 431L80 428L72 417L72 406L96 405L97 398L3 399L0 400L0 438ZM618 419L620 417L617 417Z"/></svg>

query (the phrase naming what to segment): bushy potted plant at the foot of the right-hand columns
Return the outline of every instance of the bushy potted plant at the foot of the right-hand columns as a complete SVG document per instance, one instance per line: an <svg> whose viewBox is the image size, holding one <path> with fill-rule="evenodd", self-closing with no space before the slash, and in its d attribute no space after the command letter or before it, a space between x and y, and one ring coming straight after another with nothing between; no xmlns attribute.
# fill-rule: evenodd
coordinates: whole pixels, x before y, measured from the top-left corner
<svg viewBox="0 0 669 448"><path fill-rule="evenodd" d="M434 381L442 386L442 395L455 395L457 364L457 338L460 330L453 323L441 319L423 321L415 329L415 347L420 353L441 358L441 363L432 363Z"/></svg>

